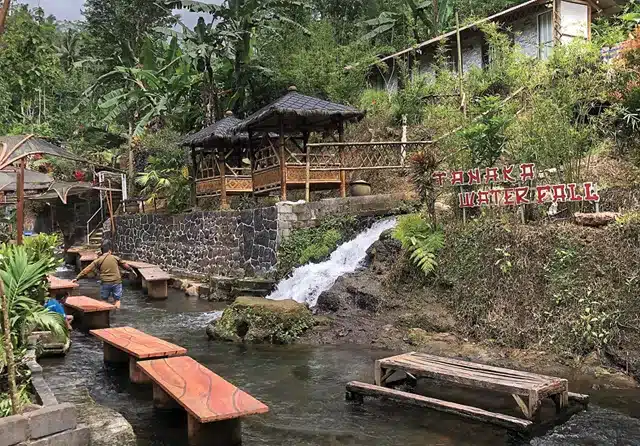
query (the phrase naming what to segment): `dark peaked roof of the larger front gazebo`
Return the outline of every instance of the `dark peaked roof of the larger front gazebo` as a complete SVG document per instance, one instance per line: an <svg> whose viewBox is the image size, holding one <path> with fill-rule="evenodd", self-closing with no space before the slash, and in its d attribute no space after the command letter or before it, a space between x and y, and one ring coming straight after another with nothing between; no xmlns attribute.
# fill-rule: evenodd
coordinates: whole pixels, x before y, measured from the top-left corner
<svg viewBox="0 0 640 446"><path fill-rule="evenodd" d="M320 131L337 122L360 120L364 115L354 107L306 96L292 87L289 93L240 122L235 131L280 132L281 120L285 133Z"/></svg>

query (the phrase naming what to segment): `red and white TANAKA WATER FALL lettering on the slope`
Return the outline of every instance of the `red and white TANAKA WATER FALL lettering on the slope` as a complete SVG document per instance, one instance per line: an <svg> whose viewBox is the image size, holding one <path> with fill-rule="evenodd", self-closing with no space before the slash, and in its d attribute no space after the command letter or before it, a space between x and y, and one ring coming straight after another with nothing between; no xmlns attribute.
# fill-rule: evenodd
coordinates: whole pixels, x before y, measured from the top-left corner
<svg viewBox="0 0 640 446"><path fill-rule="evenodd" d="M532 183L538 178L533 163L523 163L498 167L478 167L450 172L437 171L433 173L433 180L437 186L458 186L458 202L461 208L482 206L521 206L526 204L598 202L596 185L591 182L543 184L534 186ZM464 186L478 186L479 190L465 191Z"/></svg>

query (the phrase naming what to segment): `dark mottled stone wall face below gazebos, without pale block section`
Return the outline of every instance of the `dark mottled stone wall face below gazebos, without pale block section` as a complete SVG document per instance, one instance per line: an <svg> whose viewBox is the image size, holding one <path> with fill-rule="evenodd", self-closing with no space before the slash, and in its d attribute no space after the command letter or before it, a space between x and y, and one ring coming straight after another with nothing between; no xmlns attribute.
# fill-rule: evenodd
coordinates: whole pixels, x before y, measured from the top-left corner
<svg viewBox="0 0 640 446"><path fill-rule="evenodd" d="M270 271L276 263L277 209L145 214L116 218L112 239L126 259L169 271L229 277Z"/></svg>

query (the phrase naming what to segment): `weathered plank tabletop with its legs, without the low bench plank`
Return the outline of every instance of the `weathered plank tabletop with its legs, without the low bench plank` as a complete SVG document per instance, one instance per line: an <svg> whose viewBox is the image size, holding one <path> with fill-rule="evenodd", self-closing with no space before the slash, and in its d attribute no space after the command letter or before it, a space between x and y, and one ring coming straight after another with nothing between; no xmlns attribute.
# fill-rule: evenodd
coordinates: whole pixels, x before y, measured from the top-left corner
<svg viewBox="0 0 640 446"><path fill-rule="evenodd" d="M426 377L480 389L509 393L527 420L535 420L542 401L551 398L558 412L569 404L566 379L521 372L484 364L443 358L424 353L406 353L376 361L375 384L385 386L396 372ZM528 398L527 403L522 397Z"/></svg>

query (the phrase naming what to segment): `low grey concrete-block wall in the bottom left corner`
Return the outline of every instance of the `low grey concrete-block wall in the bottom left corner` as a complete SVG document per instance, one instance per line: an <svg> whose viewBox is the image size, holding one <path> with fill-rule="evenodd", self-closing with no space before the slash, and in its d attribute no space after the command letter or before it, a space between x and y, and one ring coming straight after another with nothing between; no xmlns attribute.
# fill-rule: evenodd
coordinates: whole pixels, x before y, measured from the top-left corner
<svg viewBox="0 0 640 446"><path fill-rule="evenodd" d="M58 404L55 395L42 377L42 367L35 361L35 352L28 362L31 383L38 396L40 409L0 418L0 446L89 446L91 433L78 424L74 404Z"/></svg>

